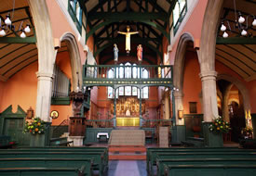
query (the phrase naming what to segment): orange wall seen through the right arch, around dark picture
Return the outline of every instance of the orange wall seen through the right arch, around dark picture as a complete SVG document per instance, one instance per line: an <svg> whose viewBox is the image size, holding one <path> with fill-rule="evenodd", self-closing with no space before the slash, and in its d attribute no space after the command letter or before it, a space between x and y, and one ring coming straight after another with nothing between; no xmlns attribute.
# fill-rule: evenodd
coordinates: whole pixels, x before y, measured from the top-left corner
<svg viewBox="0 0 256 176"><path fill-rule="evenodd" d="M197 114L202 113L199 94L202 90L199 78L200 66L195 52L186 52L183 73L183 108L184 114L189 114L189 102L197 102Z"/></svg>

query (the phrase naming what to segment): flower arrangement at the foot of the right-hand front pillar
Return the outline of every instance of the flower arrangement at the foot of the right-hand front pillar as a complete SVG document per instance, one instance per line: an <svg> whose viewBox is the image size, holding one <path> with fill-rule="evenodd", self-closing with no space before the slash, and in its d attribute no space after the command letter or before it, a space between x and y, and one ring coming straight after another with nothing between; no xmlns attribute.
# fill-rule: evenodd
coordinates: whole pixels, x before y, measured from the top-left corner
<svg viewBox="0 0 256 176"><path fill-rule="evenodd" d="M212 121L209 125L209 131L213 133L227 133L231 130L229 122L223 120L222 117L218 117Z"/></svg>

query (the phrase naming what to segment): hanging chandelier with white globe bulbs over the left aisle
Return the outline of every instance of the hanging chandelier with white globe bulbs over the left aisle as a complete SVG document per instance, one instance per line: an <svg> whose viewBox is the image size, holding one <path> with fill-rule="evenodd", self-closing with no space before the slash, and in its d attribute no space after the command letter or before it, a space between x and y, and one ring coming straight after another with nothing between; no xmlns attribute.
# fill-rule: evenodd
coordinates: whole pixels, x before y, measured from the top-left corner
<svg viewBox="0 0 256 176"><path fill-rule="evenodd" d="M12 7L12 17L10 17L10 12L7 14L7 18L3 21L2 24L2 19L4 19L2 16L0 16L0 36L4 37L7 35L8 31L13 31L15 32L15 26L12 24L11 19L14 17L14 7L15 7L15 0L13 1L13 7ZM26 33L29 33L31 31L30 25L27 24L26 27L23 27L23 21L20 23L20 37L21 38L26 38Z"/></svg>

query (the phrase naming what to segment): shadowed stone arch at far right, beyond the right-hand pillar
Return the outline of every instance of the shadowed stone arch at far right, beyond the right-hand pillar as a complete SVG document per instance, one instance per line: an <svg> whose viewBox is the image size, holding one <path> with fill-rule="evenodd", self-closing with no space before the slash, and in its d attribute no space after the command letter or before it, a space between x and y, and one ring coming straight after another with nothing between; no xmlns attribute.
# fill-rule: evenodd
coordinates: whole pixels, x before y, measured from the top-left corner
<svg viewBox="0 0 256 176"><path fill-rule="evenodd" d="M250 105L249 105L249 91L244 85L243 82L237 80L235 77L227 74L219 74L217 76L217 80L225 80L227 82L231 82L231 84L236 85L237 89L240 91L243 97L244 102L244 110L246 113L250 112ZM231 86L230 86L231 88ZM229 90L230 90L229 88Z"/></svg>

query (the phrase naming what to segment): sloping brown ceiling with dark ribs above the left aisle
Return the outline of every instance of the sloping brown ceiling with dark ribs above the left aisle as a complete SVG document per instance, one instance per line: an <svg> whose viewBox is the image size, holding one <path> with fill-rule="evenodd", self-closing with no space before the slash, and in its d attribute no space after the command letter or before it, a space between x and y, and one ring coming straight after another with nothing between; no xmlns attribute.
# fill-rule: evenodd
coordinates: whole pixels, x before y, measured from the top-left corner
<svg viewBox="0 0 256 176"><path fill-rule="evenodd" d="M16 1L13 11L13 1L2 0L0 6L1 26L10 15L13 28L7 31L5 37L0 37L0 81L6 82L11 76L34 63L37 60L34 23L26 0ZM31 26L27 38L20 38L20 23Z"/></svg>

